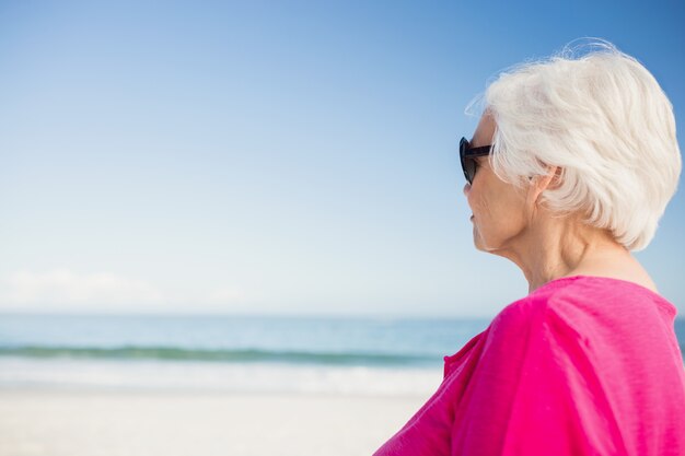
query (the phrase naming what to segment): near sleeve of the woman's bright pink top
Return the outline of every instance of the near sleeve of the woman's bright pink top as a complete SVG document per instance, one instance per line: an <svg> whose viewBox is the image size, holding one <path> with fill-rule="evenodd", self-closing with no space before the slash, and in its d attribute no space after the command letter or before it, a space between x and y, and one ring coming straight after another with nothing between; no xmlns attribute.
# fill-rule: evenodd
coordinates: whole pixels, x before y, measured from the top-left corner
<svg viewBox="0 0 685 456"><path fill-rule="evenodd" d="M580 336L533 299L506 308L456 410L452 455L622 454L620 445Z"/></svg>

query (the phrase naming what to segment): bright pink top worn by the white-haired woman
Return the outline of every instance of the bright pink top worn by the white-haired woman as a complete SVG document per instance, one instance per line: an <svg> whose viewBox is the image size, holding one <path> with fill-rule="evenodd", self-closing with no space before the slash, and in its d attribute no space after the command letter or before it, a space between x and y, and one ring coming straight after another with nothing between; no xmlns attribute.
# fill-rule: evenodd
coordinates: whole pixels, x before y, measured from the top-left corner
<svg viewBox="0 0 685 456"><path fill-rule="evenodd" d="M438 390L374 456L685 455L675 314L632 282L548 282L445 356Z"/></svg>

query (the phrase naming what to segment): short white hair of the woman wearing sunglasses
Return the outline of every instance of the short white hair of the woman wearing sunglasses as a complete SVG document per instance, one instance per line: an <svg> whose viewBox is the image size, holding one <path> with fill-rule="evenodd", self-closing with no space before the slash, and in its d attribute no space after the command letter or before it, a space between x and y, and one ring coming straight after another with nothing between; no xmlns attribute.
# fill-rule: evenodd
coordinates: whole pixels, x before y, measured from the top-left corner
<svg viewBox="0 0 685 456"><path fill-rule="evenodd" d="M500 179L524 186L559 166L542 195L553 213L647 247L682 164L673 106L640 62L593 38L504 70L466 110L478 100L497 124L488 160Z"/></svg>

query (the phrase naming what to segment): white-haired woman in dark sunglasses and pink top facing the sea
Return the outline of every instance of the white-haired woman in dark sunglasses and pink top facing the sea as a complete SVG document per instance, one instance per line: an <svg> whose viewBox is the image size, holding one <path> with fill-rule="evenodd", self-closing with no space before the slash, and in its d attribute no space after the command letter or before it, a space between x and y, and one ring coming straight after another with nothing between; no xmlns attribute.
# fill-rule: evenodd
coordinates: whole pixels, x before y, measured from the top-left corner
<svg viewBox="0 0 685 456"><path fill-rule="evenodd" d="M685 455L673 319L631 250L676 189L672 106L601 42L507 71L460 153L476 248L529 294L456 354L387 455Z"/></svg>

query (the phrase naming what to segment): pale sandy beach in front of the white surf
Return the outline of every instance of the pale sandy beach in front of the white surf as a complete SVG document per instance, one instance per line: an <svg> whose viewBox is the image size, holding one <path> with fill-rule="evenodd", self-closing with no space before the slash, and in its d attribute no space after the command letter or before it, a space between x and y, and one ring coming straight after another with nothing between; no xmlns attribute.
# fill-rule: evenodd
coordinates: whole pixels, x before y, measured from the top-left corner
<svg viewBox="0 0 685 456"><path fill-rule="evenodd" d="M0 389L0 456L370 455L427 397Z"/></svg>

